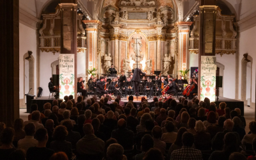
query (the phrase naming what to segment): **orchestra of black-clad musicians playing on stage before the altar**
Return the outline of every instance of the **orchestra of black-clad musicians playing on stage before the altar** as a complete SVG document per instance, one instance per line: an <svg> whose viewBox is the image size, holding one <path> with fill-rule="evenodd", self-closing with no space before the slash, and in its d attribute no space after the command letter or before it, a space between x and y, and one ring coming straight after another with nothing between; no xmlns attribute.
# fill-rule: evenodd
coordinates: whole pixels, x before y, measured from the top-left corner
<svg viewBox="0 0 256 160"><path fill-rule="evenodd" d="M115 69L111 66L111 68ZM109 68L109 70L111 70ZM140 68L138 68L140 72ZM129 74L128 74L129 75ZM188 86L184 87L184 84L188 83L186 79L182 79L182 76L179 76L179 79L174 79L173 76L167 75L165 77L156 75L146 75L144 72L140 72L140 77L137 77L139 80L133 80L134 74L129 76L125 76L124 72L121 72L120 76L112 76L112 81L110 81L110 77L108 79L107 76L101 76L98 81L95 77L91 76L86 83L88 85L88 89L92 92L100 93L101 97L104 94L110 93L115 96L120 95L121 97L126 97L127 95L134 95L138 92L147 95L148 97L153 97L155 94L156 96L160 95L177 95L177 92L181 92L180 95L188 99L193 99L195 93L197 93L197 78L189 78ZM134 79L137 79L134 77ZM81 90L83 88L83 81L78 81ZM134 87L134 83L136 83L138 88ZM79 85L77 83L77 86ZM80 89L79 89L80 90ZM81 91L80 90L80 91ZM84 97L85 92L83 93Z"/></svg>

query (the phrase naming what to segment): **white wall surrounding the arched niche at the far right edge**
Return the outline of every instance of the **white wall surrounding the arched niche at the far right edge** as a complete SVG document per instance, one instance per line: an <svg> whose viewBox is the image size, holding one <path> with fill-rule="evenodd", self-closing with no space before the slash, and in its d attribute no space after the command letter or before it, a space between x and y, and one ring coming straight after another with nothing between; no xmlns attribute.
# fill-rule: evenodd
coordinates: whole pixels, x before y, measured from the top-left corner
<svg viewBox="0 0 256 160"><path fill-rule="evenodd" d="M240 33L239 40L239 99L241 99L241 62L243 54L252 57L252 102L255 103L255 60L256 60L256 26ZM252 105L252 104L251 104Z"/></svg>

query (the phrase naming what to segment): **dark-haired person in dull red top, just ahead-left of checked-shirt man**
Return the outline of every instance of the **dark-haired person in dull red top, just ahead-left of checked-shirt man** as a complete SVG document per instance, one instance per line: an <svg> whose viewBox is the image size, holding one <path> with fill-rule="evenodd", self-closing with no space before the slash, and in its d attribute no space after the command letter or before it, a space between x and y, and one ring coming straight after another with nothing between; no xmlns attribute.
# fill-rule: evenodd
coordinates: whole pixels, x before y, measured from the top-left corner
<svg viewBox="0 0 256 160"><path fill-rule="evenodd" d="M174 132L175 126L173 122L166 121L164 127L167 132L163 133L161 141L164 141L165 143L174 143L177 138L177 132Z"/></svg>

